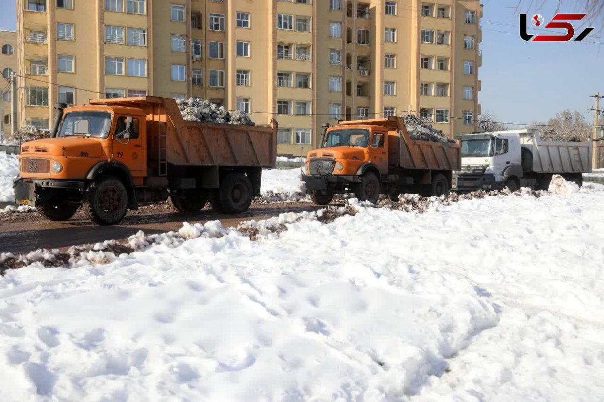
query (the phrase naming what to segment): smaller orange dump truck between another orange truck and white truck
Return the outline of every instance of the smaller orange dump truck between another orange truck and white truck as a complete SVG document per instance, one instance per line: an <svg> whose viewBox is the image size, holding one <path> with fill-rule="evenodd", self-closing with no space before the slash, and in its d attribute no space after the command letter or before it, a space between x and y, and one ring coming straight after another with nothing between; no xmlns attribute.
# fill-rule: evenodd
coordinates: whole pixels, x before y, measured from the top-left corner
<svg viewBox="0 0 604 402"><path fill-rule="evenodd" d="M306 157L303 181L313 202L326 205L336 193L377 202L379 194L440 196L461 166L457 142L411 139L402 118L341 121L326 130L323 147Z"/></svg>

